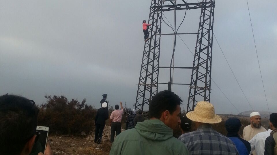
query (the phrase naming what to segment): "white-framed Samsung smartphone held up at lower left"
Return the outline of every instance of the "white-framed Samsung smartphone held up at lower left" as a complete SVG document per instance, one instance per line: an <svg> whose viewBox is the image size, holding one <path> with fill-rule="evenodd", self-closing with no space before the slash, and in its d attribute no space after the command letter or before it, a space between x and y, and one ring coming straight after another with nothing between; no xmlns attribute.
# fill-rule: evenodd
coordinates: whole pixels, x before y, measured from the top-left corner
<svg viewBox="0 0 277 155"><path fill-rule="evenodd" d="M42 152L44 154L44 151L46 149L49 128L47 126L37 126L36 131L37 137L35 139L35 143L30 155L37 155L39 152Z"/></svg>

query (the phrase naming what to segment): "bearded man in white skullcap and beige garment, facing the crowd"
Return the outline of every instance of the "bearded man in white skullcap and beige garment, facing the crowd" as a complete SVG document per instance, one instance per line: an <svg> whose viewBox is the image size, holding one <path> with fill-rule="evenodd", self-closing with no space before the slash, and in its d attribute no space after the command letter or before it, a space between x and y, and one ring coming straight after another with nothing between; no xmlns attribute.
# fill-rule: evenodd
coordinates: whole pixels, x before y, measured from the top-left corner
<svg viewBox="0 0 277 155"><path fill-rule="evenodd" d="M250 114L250 125L244 127L242 138L250 141L257 133L265 132L266 129L261 126L261 115L258 112L252 112Z"/></svg>

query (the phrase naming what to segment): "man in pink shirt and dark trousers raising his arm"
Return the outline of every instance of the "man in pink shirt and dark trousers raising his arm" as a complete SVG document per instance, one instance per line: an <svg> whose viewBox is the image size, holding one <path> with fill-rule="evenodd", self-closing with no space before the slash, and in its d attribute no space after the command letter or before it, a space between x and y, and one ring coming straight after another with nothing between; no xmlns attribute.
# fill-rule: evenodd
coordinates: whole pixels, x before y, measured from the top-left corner
<svg viewBox="0 0 277 155"><path fill-rule="evenodd" d="M115 105L115 110L112 112L110 116L110 126L111 126L111 143L115 140L115 132L116 136L121 132L121 118L123 114L123 106L122 102L120 102L121 110L119 110L119 106Z"/></svg>

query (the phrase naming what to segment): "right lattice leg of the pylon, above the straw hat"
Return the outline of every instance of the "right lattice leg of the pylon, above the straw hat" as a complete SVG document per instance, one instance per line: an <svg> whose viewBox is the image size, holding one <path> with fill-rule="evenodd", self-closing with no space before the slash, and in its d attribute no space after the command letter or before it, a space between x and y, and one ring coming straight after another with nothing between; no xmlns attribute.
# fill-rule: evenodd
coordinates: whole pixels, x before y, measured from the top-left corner
<svg viewBox="0 0 277 155"><path fill-rule="evenodd" d="M212 2L214 4L214 0L203 0L203 5L206 5L204 2ZM210 101L213 25L214 7L202 7L198 29L199 34L195 46L187 112L192 111L198 101Z"/></svg>

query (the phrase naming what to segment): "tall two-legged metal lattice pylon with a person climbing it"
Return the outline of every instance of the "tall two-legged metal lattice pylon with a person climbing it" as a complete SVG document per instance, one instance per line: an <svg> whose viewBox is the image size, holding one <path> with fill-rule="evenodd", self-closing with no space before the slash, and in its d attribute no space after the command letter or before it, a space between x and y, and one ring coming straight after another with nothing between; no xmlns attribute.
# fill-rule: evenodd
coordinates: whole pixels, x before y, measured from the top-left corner
<svg viewBox="0 0 277 155"><path fill-rule="evenodd" d="M182 69L192 69L190 93L188 100L188 111L193 110L196 105L196 99L201 97L202 100L209 101L210 98L210 82L211 82L211 62L212 62L212 30L214 21L214 0L203 0L199 3L186 3L180 0L181 3L176 4L172 0L152 0L149 13L149 23L151 38L145 42L143 57L141 63L141 72L139 75L139 84L136 96L135 108L145 110L144 106L149 105L152 97L158 92L159 83L159 68L173 68L160 67L160 39L162 35L176 35L161 34L162 12L176 11L176 10L191 10L201 9L199 30L198 33L178 33L179 34L198 34L195 48L195 55L193 67L175 67ZM169 2L164 5L164 2ZM174 3L175 2L175 3ZM169 5L170 4L170 5ZM200 69L205 71L201 71ZM204 82L204 84L203 84ZM169 82L168 88L171 88ZM207 92L208 91L208 92ZM198 97L199 96L199 97ZM204 97L204 99L202 98ZM190 108L192 104L192 108ZM144 113L148 116L147 113Z"/></svg>

